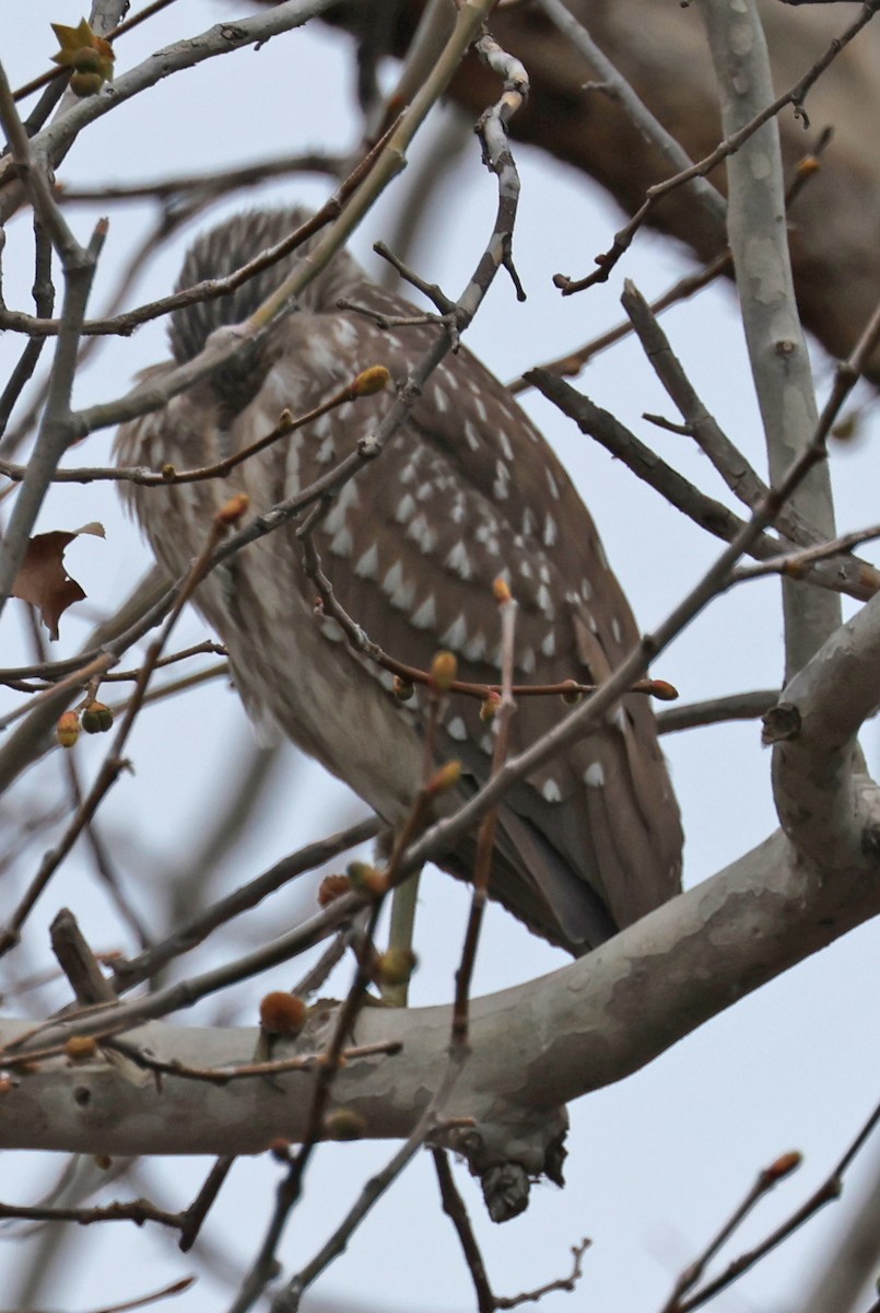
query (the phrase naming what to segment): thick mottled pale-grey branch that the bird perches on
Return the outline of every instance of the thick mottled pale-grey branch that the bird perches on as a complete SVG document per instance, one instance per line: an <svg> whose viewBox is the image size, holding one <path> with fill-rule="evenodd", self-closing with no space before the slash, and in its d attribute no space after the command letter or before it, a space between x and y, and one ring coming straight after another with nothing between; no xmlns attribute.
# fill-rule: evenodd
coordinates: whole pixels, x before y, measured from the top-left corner
<svg viewBox="0 0 880 1313"><path fill-rule="evenodd" d="M476 1001L472 1056L449 1113L476 1119L477 1138L468 1132L468 1145L477 1154L489 1146L500 1157L529 1159L551 1124L559 1130L555 1119L542 1121L555 1106L637 1070L877 913L873 855L825 881L778 832L588 957ZM353 1061L338 1075L334 1095L366 1119L367 1136L409 1134L446 1069L450 1020L449 1007L361 1014L355 1043L403 1045L399 1056ZM7 1022L0 1037L14 1044L30 1029ZM64 1033L59 1023L41 1044ZM159 1023L129 1035L165 1062L215 1067L249 1062L256 1039L250 1028ZM135 1086L100 1056L76 1066L58 1057L14 1073L0 1100L0 1144L109 1154L258 1153L279 1136L306 1134L312 1082L313 1075L291 1073L271 1085L216 1087L165 1077Z"/></svg>

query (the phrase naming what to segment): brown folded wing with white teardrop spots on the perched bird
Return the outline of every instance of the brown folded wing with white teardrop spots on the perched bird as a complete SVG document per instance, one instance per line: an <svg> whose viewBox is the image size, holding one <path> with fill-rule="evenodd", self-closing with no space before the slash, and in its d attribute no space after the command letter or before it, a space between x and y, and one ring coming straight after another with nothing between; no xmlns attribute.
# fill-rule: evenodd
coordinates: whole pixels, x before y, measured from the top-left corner
<svg viewBox="0 0 880 1313"><path fill-rule="evenodd" d="M357 299L384 312L405 306L370 284ZM290 316L256 402L232 425L233 440L252 440L285 406L306 410L369 365L386 364L401 382L433 331L386 332L338 311ZM388 404L387 397L362 399L300 431L258 467L249 462L256 504L273 504L325 474L375 429ZM374 642L420 668L446 647L463 679L498 681L492 597L498 576L519 604L518 681L599 680L637 637L568 475L509 393L467 352L434 372L382 457L341 491L316 544L346 611ZM265 550L285 587L310 603L295 538L273 534ZM270 634L260 641L271 646ZM559 697L521 699L514 750L567 712ZM403 714L412 723L412 710ZM480 784L492 742L479 702L451 697L441 756L460 758ZM329 764L345 777L344 762ZM501 850L521 868L517 878L548 901L550 920L557 922L556 934L535 928L569 947L606 937L607 926L597 934L597 906L626 924L675 892L678 811L644 699L624 699L597 730L514 790L502 831ZM515 895L496 892L517 910Z"/></svg>

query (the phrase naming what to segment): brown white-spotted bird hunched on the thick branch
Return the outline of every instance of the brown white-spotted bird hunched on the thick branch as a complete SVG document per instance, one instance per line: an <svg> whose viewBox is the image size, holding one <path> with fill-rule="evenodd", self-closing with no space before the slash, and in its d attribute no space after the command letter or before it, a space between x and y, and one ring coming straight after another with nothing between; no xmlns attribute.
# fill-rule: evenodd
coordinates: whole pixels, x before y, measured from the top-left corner
<svg viewBox="0 0 880 1313"><path fill-rule="evenodd" d="M282 206L220 222L189 249L178 289L232 273L306 217ZM174 309L170 358L146 370L140 386L250 315L303 249L228 295ZM370 280L348 251L337 252L241 362L123 424L117 460L201 467L269 433L283 411L306 414L366 368L384 365L400 386L438 330L424 316L382 327L380 316L418 312ZM161 567L178 578L232 494L247 494L253 515L290 498L374 432L390 403L380 393L324 414L226 479L126 482L123 496ZM399 827L424 779L426 695L417 689L401 701L390 672L353 651L336 618L316 614L295 528L268 534L212 571L195 604L224 643L236 689L264 731L287 735ZM345 611L386 653L422 671L438 651L451 651L460 680L498 684L497 579L508 582L518 607L517 683L598 683L639 638L560 460L464 347L431 373L380 458L338 491L313 541ZM568 712L556 695L519 699L511 750L534 743ZM450 693L433 733L437 760L460 762L459 783L445 800L452 806L489 777L493 726L477 700ZM534 934L580 956L675 894L681 855L679 811L653 713L644 695L630 693L504 797L489 895ZM468 880L473 857L468 835L435 861Z"/></svg>

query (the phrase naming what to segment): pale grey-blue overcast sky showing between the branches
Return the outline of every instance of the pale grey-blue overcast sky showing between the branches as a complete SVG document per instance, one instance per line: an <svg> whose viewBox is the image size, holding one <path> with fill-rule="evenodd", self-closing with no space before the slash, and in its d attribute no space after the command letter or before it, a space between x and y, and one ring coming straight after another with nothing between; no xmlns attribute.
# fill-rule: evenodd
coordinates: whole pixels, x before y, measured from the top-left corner
<svg viewBox="0 0 880 1313"><path fill-rule="evenodd" d="M159 46L194 34L218 16L237 11L206 0L188 0L147 24L118 46L118 67L126 68ZM695 11L687 21L698 22ZM0 58L13 85L39 72L54 45L49 22L76 24L80 0L7 0L0 26ZM685 20L682 20L685 21ZM317 25L271 41L258 53L243 51L169 79L152 92L106 116L88 131L59 172L68 185L143 181L173 171L202 172L253 161L275 154L317 146L351 147L357 118L351 96L348 42ZM235 70L235 71L233 71ZM429 125L443 130L446 112ZM551 286L557 269L577 273L609 244L619 215L570 171L525 147L515 150L522 176L522 204L515 238L517 267L529 293L525 306L515 302L508 280L496 280L487 305L468 334L468 345L502 378L580 344L619 318L616 298L623 274L652 295L687 267L683 255L660 239L640 235L609 286L588 297L561 301ZM388 235L388 215L400 204L404 175L383 205L358 232L354 249L365 265L379 273L371 243ZM273 200L320 200L327 184L291 180L260 193ZM233 210L250 198L232 198ZM458 295L490 230L496 184L481 168L476 140L454 177L435 201L442 214L442 238L429 230L413 260L421 273ZM68 218L80 240L90 232L101 210L71 207ZM94 305L114 282L114 270L146 231L148 205L114 206L111 227L97 282ZM222 213L222 210L218 210ZM209 221L201 219L205 226ZM176 242L144 270L130 303L167 291L176 277L190 234ZM4 290L10 306L30 307L26 225L10 228L4 264ZM761 433L741 334L729 288L715 288L699 301L675 309L665 327L691 379L727 432L758 467ZM17 357L20 344L7 335L0 341L3 376ZM134 373L165 355L164 328L151 324L127 343L108 345L77 385L76 402L118 395ZM820 398L829 382L829 365L817 356ZM724 499L707 463L685 437L652 429L643 411L669 414L653 373L631 343L601 356L582 386L602 406L671 460L682 471ZM557 415L534 398L525 404L553 441L599 525L612 567L630 595L644 626L654 625L713 558L716 546L640 486L602 450L589 445ZM875 421L876 437L876 421ZM876 519L876 462L870 436L854 449L834 450L833 473L838 490L842 529ZM109 436L98 435L75 453L89 463L106 458ZM52 496L39 528L76 528L101 520L105 542L77 542L71 569L89 593L77 614L64 618L59 653L75 650L87 633L87 620L121 597L146 565L136 532L115 508L111 490L100 486L66 487ZM871 550L866 550L871 557ZM876 559L876 557L872 557ZM4 616L4 664L26 651L18 605ZM778 586L762 582L734 590L710 608L656 663L654 674L671 680L686 701L779 681L780 614ZM198 641L206 628L188 618L178 638ZM5 704L4 704L5 705ZM233 696L223 688L176 700L143 717L131 743L136 767L102 810L105 832L118 843L123 869L140 877L155 867L165 873L185 863L185 846L210 825L201 815L206 769L230 773L249 743L249 727ZM876 730L863 738L876 767ZM231 747L232 746L232 747ZM769 756L761 750L755 725L668 738L673 780L685 814L686 882L696 882L761 840L774 827L769 788ZM81 752L84 771L98 760L90 744ZM206 763L218 763L207 768ZM24 783L28 789L37 776ZM18 792L18 798L22 793ZM270 805L260 823L236 848L218 874L216 888L250 878L306 839L336 829L340 817L358 814L344 790L308 773L289 752L274 779ZM22 868L22 878L30 874ZM64 868L38 909L29 948L33 962L47 961L43 928L63 902L68 903L90 941L119 945L118 924L96 889L83 855ZM148 914L150 886L136 894ZM292 909L294 901L285 905ZM464 916L466 892L443 877L425 882L420 924L422 966L413 982L413 1002L450 998ZM254 940L264 931L278 932L278 914L245 930ZM875 926L863 927L808 964L766 986L757 995L678 1044L648 1070L573 1107L573 1129L567 1165L568 1187L544 1186L535 1191L525 1217L502 1228L483 1220L477 1191L462 1171L472 1215L496 1289L514 1293L563 1275L569 1246L589 1236L594 1247L585 1258L585 1275L574 1297L557 1295L544 1302L548 1313L564 1306L602 1310L658 1308L678 1270L698 1251L725 1218L755 1173L787 1149L807 1154L807 1165L759 1211L742 1234L755 1239L795 1207L830 1169L873 1106L880 1090L880 1056L871 1027L876 997L876 960L880 941ZM182 970L203 969L222 951L214 943L191 955ZM489 919L479 962L477 990L488 991L561 964L563 955L529 936L501 913ZM230 1022L250 1024L266 987L287 987L298 972L282 970L239 986L224 1001ZM344 989L344 981L336 983ZM180 1018L181 1024L218 1016L218 1001ZM308 1259L341 1217L362 1180L391 1152L387 1145L323 1148L310 1170L308 1199L295 1215L281 1258L290 1271ZM871 1150L852 1174L870 1175ZM875 1153L875 1158L877 1154ZM202 1179L207 1162L185 1161L146 1170L144 1192L160 1182L164 1205L184 1205ZM7 1155L0 1197L29 1201L58 1169L43 1161L34 1173L26 1155ZM278 1167L266 1159L236 1165L206 1228L207 1251L222 1257L218 1267L243 1268L256 1249L271 1208L271 1187ZM138 1187L142 1188L142 1187ZM847 1191L847 1195L850 1191ZM109 1196L113 1195L110 1187ZM810 1264L842 1224L847 1204L829 1208L795 1241L763 1263L719 1308L787 1309L797 1306ZM72 1236L70 1253L83 1260L64 1262L58 1284L43 1291L47 1302L85 1309L144 1293L193 1270L173 1241L150 1228L90 1229ZM18 1246L14 1247L16 1250ZM34 1249L33 1253L37 1253ZM730 1255L732 1257L732 1255ZM10 1245L0 1249L0 1270L18 1270ZM63 1276L62 1276L63 1272ZM17 1279L17 1278L16 1278ZM14 1283L13 1283L14 1284ZM12 1305L7 1281L0 1302ZM366 1305L395 1310L452 1313L472 1306L470 1280L449 1221L439 1213L428 1159L418 1161L358 1232L317 1289ZM576 1302L573 1302L574 1300ZM222 1309L219 1287L206 1278L178 1300L181 1310Z"/></svg>

